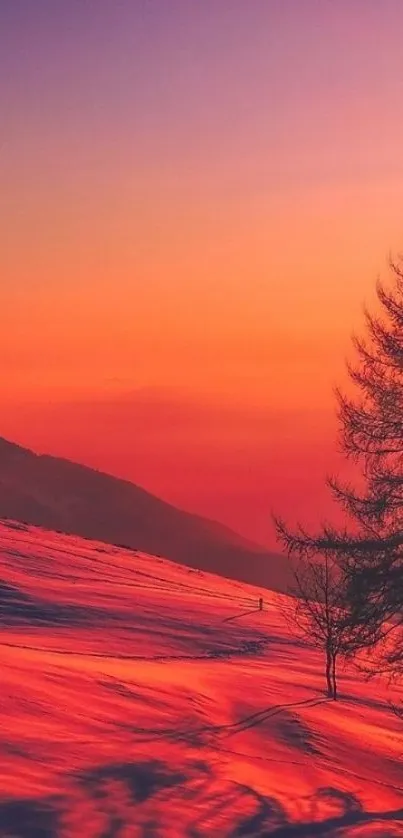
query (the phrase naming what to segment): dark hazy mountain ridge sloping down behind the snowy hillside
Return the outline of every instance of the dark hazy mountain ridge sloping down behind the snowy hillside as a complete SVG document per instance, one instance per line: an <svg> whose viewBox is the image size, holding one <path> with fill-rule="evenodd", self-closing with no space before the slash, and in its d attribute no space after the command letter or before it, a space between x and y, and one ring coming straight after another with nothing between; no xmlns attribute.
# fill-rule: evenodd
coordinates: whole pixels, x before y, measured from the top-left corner
<svg viewBox="0 0 403 838"><path fill-rule="evenodd" d="M126 480L0 437L0 518L119 544L283 591L285 558Z"/></svg>

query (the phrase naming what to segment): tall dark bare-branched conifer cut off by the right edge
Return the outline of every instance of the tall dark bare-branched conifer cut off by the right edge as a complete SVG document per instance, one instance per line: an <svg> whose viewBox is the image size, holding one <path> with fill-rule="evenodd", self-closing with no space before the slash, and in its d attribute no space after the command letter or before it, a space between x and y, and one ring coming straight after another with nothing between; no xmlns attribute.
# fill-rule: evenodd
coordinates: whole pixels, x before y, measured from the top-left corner
<svg viewBox="0 0 403 838"><path fill-rule="evenodd" d="M351 625L362 626L367 643L388 635L382 665L403 676L403 267L390 268L391 286L377 284L379 313L365 311L366 337L353 338L353 395L336 392L341 448L362 488L335 478L328 485L351 524L313 535L278 519L276 526L290 554L337 564Z"/></svg>

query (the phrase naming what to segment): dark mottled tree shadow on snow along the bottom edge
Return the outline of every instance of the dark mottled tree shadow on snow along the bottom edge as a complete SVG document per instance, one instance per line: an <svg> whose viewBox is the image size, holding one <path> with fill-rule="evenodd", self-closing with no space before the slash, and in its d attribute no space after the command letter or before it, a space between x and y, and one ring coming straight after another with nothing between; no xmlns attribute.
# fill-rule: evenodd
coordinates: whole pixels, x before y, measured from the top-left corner
<svg viewBox="0 0 403 838"><path fill-rule="evenodd" d="M297 801L294 801L297 802ZM367 811L340 789L321 788L292 817L283 802L252 786L219 780L202 762L175 770L164 762L96 767L72 778L64 795L0 801L0 836L119 838L177 834L188 838L392 838L401 835L403 808Z"/></svg>

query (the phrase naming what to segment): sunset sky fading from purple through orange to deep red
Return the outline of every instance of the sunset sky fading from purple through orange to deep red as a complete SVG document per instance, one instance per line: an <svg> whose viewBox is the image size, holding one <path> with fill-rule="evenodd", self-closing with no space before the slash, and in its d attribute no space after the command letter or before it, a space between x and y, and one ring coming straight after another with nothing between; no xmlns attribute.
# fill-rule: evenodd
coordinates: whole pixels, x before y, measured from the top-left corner
<svg viewBox="0 0 403 838"><path fill-rule="evenodd" d="M1 0L0 435L274 546L403 249L401 0Z"/></svg>

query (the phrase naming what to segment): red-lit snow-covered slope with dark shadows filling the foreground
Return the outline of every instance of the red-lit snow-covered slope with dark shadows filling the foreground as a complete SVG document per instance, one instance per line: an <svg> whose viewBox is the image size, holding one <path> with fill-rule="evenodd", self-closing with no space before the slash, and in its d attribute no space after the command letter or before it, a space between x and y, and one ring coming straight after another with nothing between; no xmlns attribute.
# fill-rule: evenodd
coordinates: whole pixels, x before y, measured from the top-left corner
<svg viewBox="0 0 403 838"><path fill-rule="evenodd" d="M392 694L324 699L280 595L6 522L0 565L1 836L403 834Z"/></svg>

